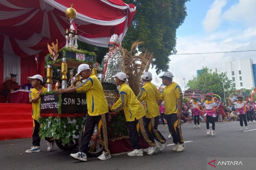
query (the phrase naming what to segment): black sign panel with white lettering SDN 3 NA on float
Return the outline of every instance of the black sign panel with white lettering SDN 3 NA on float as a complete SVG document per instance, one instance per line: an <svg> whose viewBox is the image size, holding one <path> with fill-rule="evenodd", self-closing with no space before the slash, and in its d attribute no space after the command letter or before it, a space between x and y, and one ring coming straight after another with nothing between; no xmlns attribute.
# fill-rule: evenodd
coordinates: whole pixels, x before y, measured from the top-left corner
<svg viewBox="0 0 256 170"><path fill-rule="evenodd" d="M63 93L61 113L87 113L86 94Z"/></svg>

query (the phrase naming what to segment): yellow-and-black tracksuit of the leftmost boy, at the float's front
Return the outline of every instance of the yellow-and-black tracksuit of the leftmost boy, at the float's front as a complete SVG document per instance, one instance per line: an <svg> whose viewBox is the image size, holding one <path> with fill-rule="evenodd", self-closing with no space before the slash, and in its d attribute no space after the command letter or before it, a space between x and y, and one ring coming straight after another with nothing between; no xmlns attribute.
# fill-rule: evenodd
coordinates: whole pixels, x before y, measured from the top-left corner
<svg viewBox="0 0 256 170"><path fill-rule="evenodd" d="M46 88L42 87L42 92L45 93L47 91ZM32 103L32 118L33 118L33 132L32 132L32 145L33 146L40 146L40 136L39 136L39 127L40 124L38 123L39 111L40 111L40 98L38 101L33 102L33 99L38 97L39 91L35 88L29 90L29 101ZM48 142L52 142L53 138L45 137L45 140Z"/></svg>

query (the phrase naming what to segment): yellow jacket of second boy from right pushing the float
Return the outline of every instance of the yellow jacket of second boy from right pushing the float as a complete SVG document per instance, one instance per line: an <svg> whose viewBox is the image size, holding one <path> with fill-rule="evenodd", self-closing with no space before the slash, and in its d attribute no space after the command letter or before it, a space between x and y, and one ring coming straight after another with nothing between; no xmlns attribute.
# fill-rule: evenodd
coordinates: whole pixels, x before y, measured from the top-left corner
<svg viewBox="0 0 256 170"><path fill-rule="evenodd" d="M157 100L159 100L160 94L156 89L156 86L151 82L147 82L141 88L137 99L145 103L145 111L147 118L154 118L160 115L159 106L157 104Z"/></svg>

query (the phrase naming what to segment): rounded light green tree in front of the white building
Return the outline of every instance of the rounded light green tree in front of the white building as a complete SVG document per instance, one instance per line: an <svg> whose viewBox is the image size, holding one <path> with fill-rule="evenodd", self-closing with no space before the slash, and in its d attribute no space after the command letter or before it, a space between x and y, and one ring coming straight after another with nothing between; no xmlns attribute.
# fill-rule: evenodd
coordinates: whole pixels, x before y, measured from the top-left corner
<svg viewBox="0 0 256 170"><path fill-rule="evenodd" d="M222 101L224 101L223 84L225 89L225 97L227 99L228 96L235 90L232 80L228 79L227 73L218 74L217 72L213 72L212 69L205 67L198 74L198 76L193 77L192 80L188 81L187 86L190 89L198 89L204 93L217 94L222 98Z"/></svg>

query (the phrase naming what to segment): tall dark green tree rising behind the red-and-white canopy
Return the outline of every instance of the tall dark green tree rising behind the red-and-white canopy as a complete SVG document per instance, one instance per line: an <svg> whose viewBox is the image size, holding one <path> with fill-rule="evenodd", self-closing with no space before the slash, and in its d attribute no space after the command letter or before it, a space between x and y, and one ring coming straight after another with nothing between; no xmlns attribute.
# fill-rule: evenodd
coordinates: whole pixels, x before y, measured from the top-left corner
<svg viewBox="0 0 256 170"><path fill-rule="evenodd" d="M154 53L154 65L157 73L167 71L169 56L176 53L176 29L187 16L185 3L188 0L124 0L136 6L134 19L122 41L125 49L130 49L135 40L140 39L144 44L142 50L148 49ZM108 51L107 48L79 42L80 49L95 51L97 62Z"/></svg>

